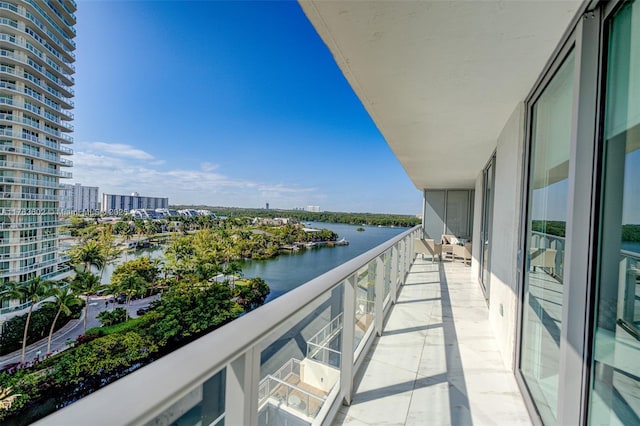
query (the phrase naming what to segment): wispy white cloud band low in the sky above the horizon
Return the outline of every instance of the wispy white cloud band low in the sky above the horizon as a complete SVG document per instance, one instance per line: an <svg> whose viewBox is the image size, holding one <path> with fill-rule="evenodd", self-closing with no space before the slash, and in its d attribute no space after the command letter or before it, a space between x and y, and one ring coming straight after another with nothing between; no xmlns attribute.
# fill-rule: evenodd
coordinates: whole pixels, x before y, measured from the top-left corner
<svg viewBox="0 0 640 426"><path fill-rule="evenodd" d="M203 162L200 170L167 169L162 159L130 145L104 142L77 143L73 181L100 187L101 193L169 197L171 204L228 206L304 206L316 193L284 183L253 182L217 172L219 166Z"/></svg>

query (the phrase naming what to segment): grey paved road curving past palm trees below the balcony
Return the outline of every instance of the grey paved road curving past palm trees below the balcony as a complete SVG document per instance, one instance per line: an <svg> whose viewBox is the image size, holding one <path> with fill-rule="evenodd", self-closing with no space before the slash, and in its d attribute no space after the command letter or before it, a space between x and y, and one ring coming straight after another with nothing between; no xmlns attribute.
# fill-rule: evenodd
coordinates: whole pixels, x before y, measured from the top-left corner
<svg viewBox="0 0 640 426"><path fill-rule="evenodd" d="M156 296L147 297L144 299L132 300L129 305L129 315L133 318L137 317L136 311L138 308L142 306L147 306L151 301L157 299ZM96 316L108 309L112 310L115 307L125 307L125 305L119 305L114 303L105 304L105 301L108 299L112 299L111 296L99 296L99 297L91 297L89 301L89 313L87 316L87 330L93 327L99 327L100 321L96 319ZM53 338L51 339L51 352L60 352L69 347L69 343L73 343L78 336L84 333L84 309L82 310L82 316L80 319L71 320L60 330L56 331L53 334ZM47 338L39 340L36 343L33 343L27 346L26 357L25 360L27 362L34 361L36 357L40 353L40 356L44 356L47 353ZM10 354L0 356L0 368L7 364L13 364L20 362L21 351L17 350L15 352L11 352Z"/></svg>

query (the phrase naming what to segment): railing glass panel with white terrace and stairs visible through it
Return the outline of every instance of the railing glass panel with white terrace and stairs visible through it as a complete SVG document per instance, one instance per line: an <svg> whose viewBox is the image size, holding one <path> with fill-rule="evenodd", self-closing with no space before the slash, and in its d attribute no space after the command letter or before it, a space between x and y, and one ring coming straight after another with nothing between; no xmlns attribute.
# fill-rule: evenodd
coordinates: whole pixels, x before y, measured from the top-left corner
<svg viewBox="0 0 640 426"><path fill-rule="evenodd" d="M260 356L259 425L310 425L340 381L344 285L276 331Z"/></svg>

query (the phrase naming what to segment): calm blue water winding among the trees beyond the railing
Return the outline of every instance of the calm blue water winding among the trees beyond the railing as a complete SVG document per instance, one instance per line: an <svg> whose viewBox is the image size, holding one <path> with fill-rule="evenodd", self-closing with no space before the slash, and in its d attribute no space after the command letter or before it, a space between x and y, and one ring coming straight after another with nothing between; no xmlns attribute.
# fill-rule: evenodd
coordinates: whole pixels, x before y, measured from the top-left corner
<svg viewBox="0 0 640 426"><path fill-rule="evenodd" d="M339 239L346 238L346 240L349 241L349 245L317 247L300 250L297 253L281 254L274 259L248 260L242 262L242 271L245 277L260 277L271 287L271 293L267 301L273 300L289 290L293 290L299 285L371 250L408 229L363 226L365 231L358 232L356 229L359 226L355 225L310 222L308 226L330 229L339 235ZM115 264L105 268L102 282L105 284L109 283L116 265L140 256L162 258L164 257L164 248L152 247L121 256Z"/></svg>

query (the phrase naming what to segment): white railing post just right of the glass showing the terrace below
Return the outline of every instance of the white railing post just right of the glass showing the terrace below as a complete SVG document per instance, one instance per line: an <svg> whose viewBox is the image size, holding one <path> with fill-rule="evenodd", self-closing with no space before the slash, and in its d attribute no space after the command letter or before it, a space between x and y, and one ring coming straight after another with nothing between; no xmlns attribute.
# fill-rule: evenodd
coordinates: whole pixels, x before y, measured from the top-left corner
<svg viewBox="0 0 640 426"><path fill-rule="evenodd" d="M340 362L340 391L342 403L351 405L353 398L353 351L356 327L356 274L344 282L344 306L342 315L342 357ZM231 424L231 423L230 423Z"/></svg>

